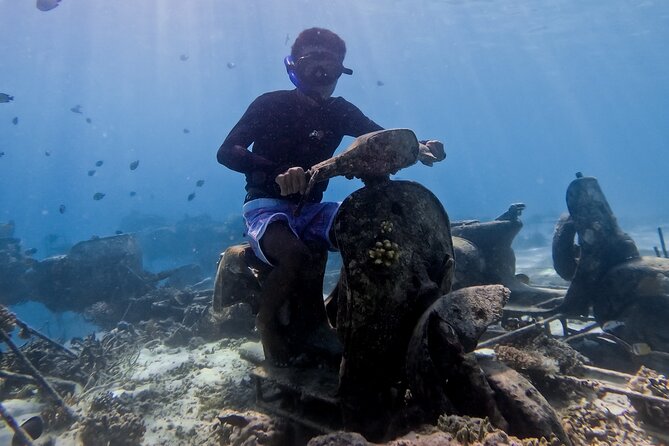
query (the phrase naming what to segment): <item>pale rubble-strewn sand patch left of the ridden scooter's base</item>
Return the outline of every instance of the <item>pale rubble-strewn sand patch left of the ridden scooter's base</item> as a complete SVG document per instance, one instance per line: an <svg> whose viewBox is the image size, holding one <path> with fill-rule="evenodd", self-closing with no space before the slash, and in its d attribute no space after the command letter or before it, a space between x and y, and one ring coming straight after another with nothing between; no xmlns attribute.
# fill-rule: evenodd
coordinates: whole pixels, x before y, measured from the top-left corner
<svg viewBox="0 0 669 446"><path fill-rule="evenodd" d="M252 367L239 357L236 345L227 340L197 348L143 348L126 381L110 384L96 394L111 392L131 401L133 412L142 415L146 426L142 445L213 446L217 445L210 438L218 424L215 415L223 409L216 398L224 395L226 389L234 394L236 387L230 389L231 383L233 387L246 386L240 389L248 392ZM75 410L85 413L93 397L88 395ZM202 406L203 401L208 402L207 407ZM26 413L27 419L33 412L39 412L37 405L19 403L22 403L21 408L12 407L13 414ZM0 430L0 435L6 430ZM80 444L73 437L71 433L62 433L56 438L56 444ZM10 443L11 435L0 437L0 445Z"/></svg>

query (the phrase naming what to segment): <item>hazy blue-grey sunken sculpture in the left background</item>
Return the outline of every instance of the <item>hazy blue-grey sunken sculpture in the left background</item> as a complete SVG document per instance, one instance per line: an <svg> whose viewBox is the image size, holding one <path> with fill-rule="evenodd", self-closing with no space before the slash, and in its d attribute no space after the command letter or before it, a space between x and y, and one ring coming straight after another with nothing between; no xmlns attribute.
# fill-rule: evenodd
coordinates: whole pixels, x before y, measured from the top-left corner
<svg viewBox="0 0 669 446"><path fill-rule="evenodd" d="M26 256L11 231L0 235L7 235L0 237L0 302L41 302L51 311L83 313L101 327L152 317L182 320L203 282L198 265L145 270L141 240L131 234L92 238L41 261Z"/></svg>

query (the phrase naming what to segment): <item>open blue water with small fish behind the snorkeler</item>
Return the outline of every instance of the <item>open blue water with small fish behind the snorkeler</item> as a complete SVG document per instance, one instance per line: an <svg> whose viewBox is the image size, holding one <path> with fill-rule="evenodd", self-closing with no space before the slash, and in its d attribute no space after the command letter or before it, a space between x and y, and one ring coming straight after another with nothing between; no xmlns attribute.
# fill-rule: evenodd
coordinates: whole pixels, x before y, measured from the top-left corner
<svg viewBox="0 0 669 446"><path fill-rule="evenodd" d="M243 176L216 150L256 96L292 88L282 60L311 26L347 43L336 95L444 141L444 163L398 177L452 219L522 201L552 221L582 171L622 222L669 220L664 0L0 0L0 222L39 257L49 234L109 235L132 212L237 214Z"/></svg>

